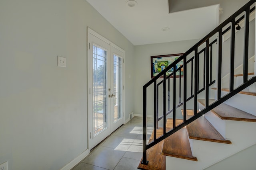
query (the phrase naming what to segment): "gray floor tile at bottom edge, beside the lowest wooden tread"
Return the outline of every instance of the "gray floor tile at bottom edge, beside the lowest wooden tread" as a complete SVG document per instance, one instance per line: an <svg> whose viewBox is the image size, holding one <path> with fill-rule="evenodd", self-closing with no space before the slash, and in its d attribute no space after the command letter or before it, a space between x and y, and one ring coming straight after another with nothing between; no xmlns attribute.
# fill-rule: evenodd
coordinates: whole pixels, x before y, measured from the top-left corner
<svg viewBox="0 0 256 170"><path fill-rule="evenodd" d="M138 170L137 167L139 163L139 160L123 157L114 170Z"/></svg>

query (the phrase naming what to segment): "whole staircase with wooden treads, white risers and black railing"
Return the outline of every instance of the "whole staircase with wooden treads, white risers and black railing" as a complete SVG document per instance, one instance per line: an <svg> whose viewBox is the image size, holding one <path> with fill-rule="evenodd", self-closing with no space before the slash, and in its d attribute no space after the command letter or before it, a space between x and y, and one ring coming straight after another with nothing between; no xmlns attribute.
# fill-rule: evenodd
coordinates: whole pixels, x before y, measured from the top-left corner
<svg viewBox="0 0 256 170"><path fill-rule="evenodd" d="M250 90L256 76L248 72L249 16L255 1L240 8L143 86L143 157L138 169L206 169L256 144L256 135L252 135L256 129L256 92ZM245 23L243 71L234 74L235 27L240 21ZM225 86L222 35L229 30L230 72ZM184 64L176 66L182 60ZM180 70L183 76L176 74ZM154 113L149 139L148 111Z"/></svg>

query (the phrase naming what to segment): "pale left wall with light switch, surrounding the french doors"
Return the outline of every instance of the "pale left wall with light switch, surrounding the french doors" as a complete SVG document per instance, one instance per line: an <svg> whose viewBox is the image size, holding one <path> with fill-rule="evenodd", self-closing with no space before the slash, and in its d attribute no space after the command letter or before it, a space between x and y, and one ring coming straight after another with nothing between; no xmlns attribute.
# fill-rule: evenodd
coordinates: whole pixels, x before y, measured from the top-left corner
<svg viewBox="0 0 256 170"><path fill-rule="evenodd" d="M128 118L134 46L86 0L0 1L0 163L9 170L58 170L87 149L87 27L126 51Z"/></svg>

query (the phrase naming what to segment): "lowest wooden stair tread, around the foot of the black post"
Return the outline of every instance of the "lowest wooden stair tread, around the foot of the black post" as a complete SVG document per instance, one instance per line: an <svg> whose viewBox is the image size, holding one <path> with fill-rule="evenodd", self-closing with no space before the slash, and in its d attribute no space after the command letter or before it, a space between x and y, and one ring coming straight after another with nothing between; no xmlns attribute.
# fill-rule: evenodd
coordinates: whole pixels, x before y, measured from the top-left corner
<svg viewBox="0 0 256 170"><path fill-rule="evenodd" d="M163 134L163 129L156 129L156 137L160 137ZM150 143L154 139L154 131L150 136ZM164 141L154 145L150 149L147 150L147 160L148 165L139 164L138 169L141 170L165 170L166 169L166 156L164 156L161 152ZM142 162L142 159L141 161Z"/></svg>

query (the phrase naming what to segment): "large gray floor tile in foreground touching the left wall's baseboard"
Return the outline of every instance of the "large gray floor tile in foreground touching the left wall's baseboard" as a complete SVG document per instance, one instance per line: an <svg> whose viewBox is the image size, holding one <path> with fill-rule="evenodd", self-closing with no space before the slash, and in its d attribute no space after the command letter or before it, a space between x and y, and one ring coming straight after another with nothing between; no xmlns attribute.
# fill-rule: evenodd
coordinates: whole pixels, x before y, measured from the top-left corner
<svg viewBox="0 0 256 170"><path fill-rule="evenodd" d="M82 162L113 170L124 154L125 151L100 146Z"/></svg>

